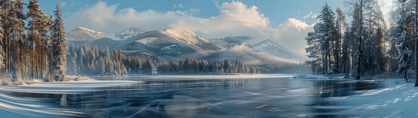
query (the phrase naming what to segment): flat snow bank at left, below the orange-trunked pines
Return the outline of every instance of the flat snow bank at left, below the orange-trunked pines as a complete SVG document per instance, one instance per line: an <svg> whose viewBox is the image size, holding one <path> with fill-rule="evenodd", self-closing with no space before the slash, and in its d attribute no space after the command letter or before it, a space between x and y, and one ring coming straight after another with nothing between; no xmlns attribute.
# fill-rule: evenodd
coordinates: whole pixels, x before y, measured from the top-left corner
<svg viewBox="0 0 418 118"><path fill-rule="evenodd" d="M136 81L69 81L69 82L34 82L31 85L0 86L0 91L30 92L30 93L59 93L74 94L97 91L100 87L112 87L138 83Z"/></svg>

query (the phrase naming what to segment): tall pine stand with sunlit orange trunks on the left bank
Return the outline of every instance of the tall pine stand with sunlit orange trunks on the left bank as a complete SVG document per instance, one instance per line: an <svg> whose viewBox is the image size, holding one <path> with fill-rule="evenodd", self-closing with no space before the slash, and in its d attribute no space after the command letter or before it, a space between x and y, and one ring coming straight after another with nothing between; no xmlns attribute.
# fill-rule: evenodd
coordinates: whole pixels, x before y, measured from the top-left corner
<svg viewBox="0 0 418 118"><path fill-rule="evenodd" d="M24 12L27 7L28 12ZM67 81L66 32L60 4L54 15L41 10L38 0L0 1L0 78L22 82L29 78Z"/></svg>

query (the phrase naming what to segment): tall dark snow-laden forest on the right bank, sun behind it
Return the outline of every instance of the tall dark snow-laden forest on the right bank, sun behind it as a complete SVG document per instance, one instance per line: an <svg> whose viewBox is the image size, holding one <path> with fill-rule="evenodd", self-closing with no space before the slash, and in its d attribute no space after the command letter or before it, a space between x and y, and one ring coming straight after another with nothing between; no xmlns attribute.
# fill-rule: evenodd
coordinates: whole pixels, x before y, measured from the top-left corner
<svg viewBox="0 0 418 118"><path fill-rule="evenodd" d="M322 75L343 73L355 79L381 74L418 79L417 0L394 1L389 19L385 19L378 0L344 3L345 12L340 8L334 12L325 3L314 31L305 38L312 71Z"/></svg>

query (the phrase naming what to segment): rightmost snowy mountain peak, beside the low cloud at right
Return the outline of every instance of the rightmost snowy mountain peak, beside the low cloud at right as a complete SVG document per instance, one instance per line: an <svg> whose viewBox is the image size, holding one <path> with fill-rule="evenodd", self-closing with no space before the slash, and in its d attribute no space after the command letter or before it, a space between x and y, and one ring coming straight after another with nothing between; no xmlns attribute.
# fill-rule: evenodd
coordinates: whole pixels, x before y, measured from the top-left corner
<svg viewBox="0 0 418 118"><path fill-rule="evenodd" d="M287 59L298 59L299 55L294 53L291 50L288 50L281 46L280 44L276 43L271 39L266 39L253 45L256 50L261 50L263 52L269 53L271 55L275 55L278 57L284 57Z"/></svg>

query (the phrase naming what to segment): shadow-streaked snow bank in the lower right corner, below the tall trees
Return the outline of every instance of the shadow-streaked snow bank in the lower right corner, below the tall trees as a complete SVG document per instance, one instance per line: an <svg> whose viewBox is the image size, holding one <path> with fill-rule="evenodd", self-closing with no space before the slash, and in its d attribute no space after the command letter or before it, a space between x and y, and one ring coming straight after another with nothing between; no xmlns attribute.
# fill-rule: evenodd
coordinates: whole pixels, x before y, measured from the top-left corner
<svg viewBox="0 0 418 118"><path fill-rule="evenodd" d="M361 90L360 94L335 97L331 100L350 103L349 109L341 114L374 118L417 118L418 87L404 79L382 79L387 87Z"/></svg>

